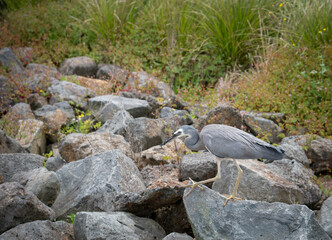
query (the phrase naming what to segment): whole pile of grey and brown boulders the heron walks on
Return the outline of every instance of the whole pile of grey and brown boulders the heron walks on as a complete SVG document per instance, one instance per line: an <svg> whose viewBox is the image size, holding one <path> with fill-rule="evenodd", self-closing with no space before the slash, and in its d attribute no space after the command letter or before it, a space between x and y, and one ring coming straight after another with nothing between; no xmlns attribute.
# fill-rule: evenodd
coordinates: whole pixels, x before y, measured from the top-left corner
<svg viewBox="0 0 332 240"><path fill-rule="evenodd" d="M281 139L277 123L287 116L240 112L225 103L199 115L147 73L97 65L88 57L55 69L23 65L4 48L0 65L8 72L0 76L6 126L0 130L1 240L331 239L332 198L314 174L331 170L332 141ZM30 94L15 103L9 93L22 86ZM60 131L85 120L101 127ZM222 194L231 193L237 177L232 160L222 161L221 180L183 198L189 177L215 176L215 157L190 153L180 140L159 146L181 125L202 129L211 123L263 132L288 156L238 160L243 200L225 207ZM46 161L42 155L50 150Z"/></svg>

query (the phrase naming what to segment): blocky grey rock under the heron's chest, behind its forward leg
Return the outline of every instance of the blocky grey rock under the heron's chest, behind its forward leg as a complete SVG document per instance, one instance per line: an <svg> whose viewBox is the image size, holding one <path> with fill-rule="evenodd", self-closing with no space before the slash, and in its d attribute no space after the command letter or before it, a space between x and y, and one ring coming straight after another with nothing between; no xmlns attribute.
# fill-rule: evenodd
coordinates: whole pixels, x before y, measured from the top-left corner
<svg viewBox="0 0 332 240"><path fill-rule="evenodd" d="M202 181L217 174L216 157L209 152L184 155L180 163L180 181Z"/></svg>

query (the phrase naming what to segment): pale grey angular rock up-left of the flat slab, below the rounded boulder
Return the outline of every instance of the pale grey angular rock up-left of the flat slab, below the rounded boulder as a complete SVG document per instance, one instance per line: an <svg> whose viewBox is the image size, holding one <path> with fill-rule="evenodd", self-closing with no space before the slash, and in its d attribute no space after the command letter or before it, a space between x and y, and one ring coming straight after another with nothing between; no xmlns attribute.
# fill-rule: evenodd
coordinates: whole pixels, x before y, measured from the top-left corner
<svg viewBox="0 0 332 240"><path fill-rule="evenodd" d="M50 103L68 101L84 110L87 110L86 99L95 96L93 91L67 81L53 81L48 91L52 95Z"/></svg>

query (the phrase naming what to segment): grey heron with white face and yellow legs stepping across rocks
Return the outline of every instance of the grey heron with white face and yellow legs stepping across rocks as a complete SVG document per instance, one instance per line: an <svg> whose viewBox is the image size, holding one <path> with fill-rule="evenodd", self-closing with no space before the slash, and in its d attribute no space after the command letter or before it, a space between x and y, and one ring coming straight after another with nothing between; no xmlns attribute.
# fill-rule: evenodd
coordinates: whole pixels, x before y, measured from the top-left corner
<svg viewBox="0 0 332 240"><path fill-rule="evenodd" d="M200 134L198 134L198 131L192 126L181 126L171 138L163 142L161 145L165 145L173 138L179 136L185 137L184 144L190 150L199 151L206 149L217 157L217 175L214 178L200 182L194 182L190 179L192 184L183 186L191 187L192 189L190 192L194 189L194 187L199 187L201 184L214 182L220 179L220 162L222 158L231 158L234 161L238 169L238 177L234 191L229 197L226 198L224 206L230 199L240 199L236 197L236 192L242 177L242 169L235 159L264 158L269 160L279 160L284 156L284 150L278 147L268 144L240 129L219 124L205 126ZM190 192L188 192L188 194ZM188 194L186 196L188 196Z"/></svg>

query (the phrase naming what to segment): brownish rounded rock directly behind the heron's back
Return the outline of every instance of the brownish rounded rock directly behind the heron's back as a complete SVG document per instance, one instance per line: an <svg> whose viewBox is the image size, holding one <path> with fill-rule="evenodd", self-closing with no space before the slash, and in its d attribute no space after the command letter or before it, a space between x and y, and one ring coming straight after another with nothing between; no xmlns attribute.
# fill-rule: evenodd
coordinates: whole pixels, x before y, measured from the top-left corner
<svg viewBox="0 0 332 240"><path fill-rule="evenodd" d="M241 129L243 122L238 109L228 104L221 104L200 117L197 128L201 130L208 124L224 124Z"/></svg>

